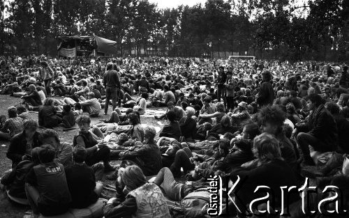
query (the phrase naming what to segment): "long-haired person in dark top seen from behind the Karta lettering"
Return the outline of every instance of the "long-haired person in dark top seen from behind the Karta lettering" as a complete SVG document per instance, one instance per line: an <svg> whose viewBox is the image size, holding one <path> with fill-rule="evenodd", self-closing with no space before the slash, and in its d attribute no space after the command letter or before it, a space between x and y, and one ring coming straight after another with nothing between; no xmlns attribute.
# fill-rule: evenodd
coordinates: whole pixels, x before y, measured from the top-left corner
<svg viewBox="0 0 349 218"><path fill-rule="evenodd" d="M270 206L269 209L281 210L282 194L280 187L298 187L295 173L281 157L281 150L279 141L269 133L262 133L255 137L253 141L253 154L256 157L255 164L245 164L245 166L239 166L232 170L230 178L232 181L236 181L239 176L240 179L244 180L244 185L235 194L241 198L242 205L250 205L251 201L261 196L267 198L262 203ZM266 186L268 189L262 189L260 192L254 192L258 186ZM295 192L288 193L288 205L298 201L299 193ZM262 203L255 203L252 205L252 209L255 210L257 206L261 206Z"/></svg>

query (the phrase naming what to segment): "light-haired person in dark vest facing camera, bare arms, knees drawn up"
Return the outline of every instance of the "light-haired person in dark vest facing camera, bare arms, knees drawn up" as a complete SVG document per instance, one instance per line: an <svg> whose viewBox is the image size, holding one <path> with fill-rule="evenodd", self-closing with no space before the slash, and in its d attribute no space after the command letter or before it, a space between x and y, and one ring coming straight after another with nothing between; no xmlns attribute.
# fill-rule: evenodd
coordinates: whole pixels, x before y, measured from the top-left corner
<svg viewBox="0 0 349 218"><path fill-rule="evenodd" d="M114 171L110 165L110 148L103 144L103 141L97 140L97 136L89 131L91 118L87 115L82 115L76 119L77 125L80 127L80 132L73 139L73 146L82 146L87 150L85 163L88 166L94 165L103 161L106 172ZM103 134L102 134L103 135Z"/></svg>

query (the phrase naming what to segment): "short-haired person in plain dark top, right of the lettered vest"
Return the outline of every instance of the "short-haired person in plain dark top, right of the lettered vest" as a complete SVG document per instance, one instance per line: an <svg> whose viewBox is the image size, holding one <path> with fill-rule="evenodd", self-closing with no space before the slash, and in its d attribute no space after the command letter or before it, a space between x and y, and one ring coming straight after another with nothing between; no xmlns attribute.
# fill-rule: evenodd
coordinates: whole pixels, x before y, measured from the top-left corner
<svg viewBox="0 0 349 218"><path fill-rule="evenodd" d="M84 163L87 150L81 146L73 149L73 164L66 166L66 181L73 208L86 208L96 203L103 191L103 182L96 182L94 169Z"/></svg>

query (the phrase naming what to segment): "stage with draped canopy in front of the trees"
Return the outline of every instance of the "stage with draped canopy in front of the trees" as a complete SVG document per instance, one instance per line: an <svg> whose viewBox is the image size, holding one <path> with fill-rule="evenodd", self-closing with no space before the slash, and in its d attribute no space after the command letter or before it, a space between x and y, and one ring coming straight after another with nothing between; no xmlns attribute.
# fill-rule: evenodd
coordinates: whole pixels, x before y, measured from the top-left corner
<svg viewBox="0 0 349 218"><path fill-rule="evenodd" d="M117 42L99 36L59 36L59 56L89 56L94 51L103 54L117 54Z"/></svg>

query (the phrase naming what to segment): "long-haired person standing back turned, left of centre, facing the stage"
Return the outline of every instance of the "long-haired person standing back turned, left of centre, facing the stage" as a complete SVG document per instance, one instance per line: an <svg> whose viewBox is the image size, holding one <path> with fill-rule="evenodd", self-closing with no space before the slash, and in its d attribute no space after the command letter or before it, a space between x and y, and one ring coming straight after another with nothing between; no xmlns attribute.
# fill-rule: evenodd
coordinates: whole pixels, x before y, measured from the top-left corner
<svg viewBox="0 0 349 218"><path fill-rule="evenodd" d="M116 70L112 70L113 64L107 63L107 72L103 77L103 85L105 87L105 108L104 114L107 115L109 101L112 100L112 109L117 107L117 89L121 87L119 75Z"/></svg>

